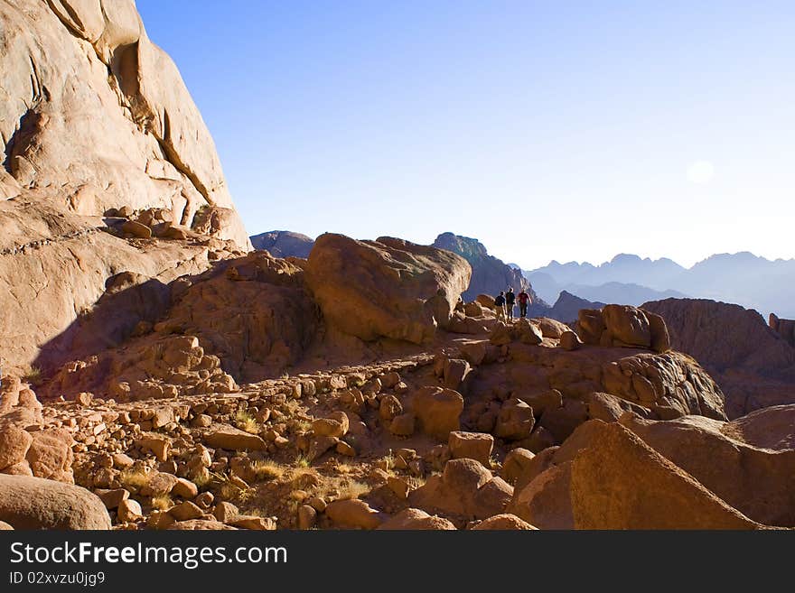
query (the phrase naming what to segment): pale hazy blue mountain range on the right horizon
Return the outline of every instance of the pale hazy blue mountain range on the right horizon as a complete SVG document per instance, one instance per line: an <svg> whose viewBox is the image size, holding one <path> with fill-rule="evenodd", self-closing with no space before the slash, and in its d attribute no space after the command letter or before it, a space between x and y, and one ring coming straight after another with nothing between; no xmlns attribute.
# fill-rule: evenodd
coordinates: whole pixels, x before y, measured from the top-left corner
<svg viewBox="0 0 795 593"><path fill-rule="evenodd" d="M740 252L711 255L685 268L668 258L621 254L600 265L553 261L523 273L547 301L561 291L634 305L688 296L733 302L763 315L795 316L795 259L770 261Z"/></svg>

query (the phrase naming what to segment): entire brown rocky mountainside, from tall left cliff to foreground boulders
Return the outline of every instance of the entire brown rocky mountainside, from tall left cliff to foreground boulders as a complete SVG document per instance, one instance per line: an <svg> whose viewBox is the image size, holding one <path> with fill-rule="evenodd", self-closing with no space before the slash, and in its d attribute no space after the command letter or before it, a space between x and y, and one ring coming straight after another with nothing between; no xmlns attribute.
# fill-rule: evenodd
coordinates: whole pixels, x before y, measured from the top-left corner
<svg viewBox="0 0 795 593"><path fill-rule="evenodd" d="M131 1L0 2L0 54L4 528L795 527L787 320L504 320L463 237L252 251Z"/></svg>

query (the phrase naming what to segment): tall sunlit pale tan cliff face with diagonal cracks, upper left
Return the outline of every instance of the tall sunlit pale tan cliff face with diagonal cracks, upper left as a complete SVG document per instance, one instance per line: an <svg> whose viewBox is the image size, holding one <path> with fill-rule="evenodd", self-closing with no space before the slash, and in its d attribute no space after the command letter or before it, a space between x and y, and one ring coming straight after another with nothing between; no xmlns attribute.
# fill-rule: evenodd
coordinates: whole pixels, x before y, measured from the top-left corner
<svg viewBox="0 0 795 593"><path fill-rule="evenodd" d="M220 237L248 246L207 126L132 0L9 2L0 20L6 184L58 188L89 216L162 207L190 224L227 208Z"/></svg>

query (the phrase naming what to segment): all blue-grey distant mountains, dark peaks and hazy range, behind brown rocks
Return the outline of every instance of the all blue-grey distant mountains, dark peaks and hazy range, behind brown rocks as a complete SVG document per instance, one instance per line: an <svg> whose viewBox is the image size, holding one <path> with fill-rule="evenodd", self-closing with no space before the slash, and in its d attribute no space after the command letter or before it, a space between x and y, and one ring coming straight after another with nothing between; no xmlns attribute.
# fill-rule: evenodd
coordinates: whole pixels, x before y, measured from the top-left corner
<svg viewBox="0 0 795 593"><path fill-rule="evenodd" d="M308 257L314 241L292 231L270 231L251 237L256 249L267 249L276 257ZM570 303L578 297L597 306L602 302L641 305L669 298L698 298L736 303L767 315L795 318L795 259L774 261L748 252L711 255L691 268L666 257L652 260L619 254L609 262L561 264L552 261L535 270L520 270L489 255L477 239L442 233L435 247L462 255L472 265L472 282L463 298L472 301L481 293L494 294L512 286L526 288L537 305L537 315L568 319ZM527 281L525 281L527 279ZM564 298L559 297L562 293ZM557 302L561 301L561 307ZM575 315L576 317L576 315ZM573 320L575 318L572 318Z"/></svg>

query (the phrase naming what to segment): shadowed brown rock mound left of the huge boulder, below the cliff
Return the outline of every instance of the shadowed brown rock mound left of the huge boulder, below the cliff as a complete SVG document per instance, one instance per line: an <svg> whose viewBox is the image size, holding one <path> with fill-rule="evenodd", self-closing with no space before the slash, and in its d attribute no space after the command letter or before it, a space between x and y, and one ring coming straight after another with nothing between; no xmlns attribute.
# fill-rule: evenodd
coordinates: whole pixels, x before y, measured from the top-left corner
<svg viewBox="0 0 795 593"><path fill-rule="evenodd" d="M135 401L230 393L238 390L236 379L280 374L301 357L318 328L303 274L285 260L256 253L169 285L135 284L130 277L130 290L126 279L117 279L99 301L107 307L95 308L74 329L75 359L58 367L42 393ZM138 303L151 311L132 315ZM120 319L134 327L108 339L103 349L79 346L86 340L94 346ZM122 341L124 335L132 338Z"/></svg>

